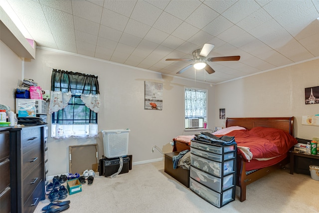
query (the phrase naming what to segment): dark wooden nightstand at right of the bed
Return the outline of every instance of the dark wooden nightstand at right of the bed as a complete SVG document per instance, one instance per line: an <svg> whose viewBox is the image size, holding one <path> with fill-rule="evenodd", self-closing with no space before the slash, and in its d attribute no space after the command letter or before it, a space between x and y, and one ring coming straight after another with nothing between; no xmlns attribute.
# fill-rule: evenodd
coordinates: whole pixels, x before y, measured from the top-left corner
<svg viewBox="0 0 319 213"><path fill-rule="evenodd" d="M293 150L290 153L290 174L302 173L310 175L309 166L319 166L319 155L308 155L305 153L295 152Z"/></svg>

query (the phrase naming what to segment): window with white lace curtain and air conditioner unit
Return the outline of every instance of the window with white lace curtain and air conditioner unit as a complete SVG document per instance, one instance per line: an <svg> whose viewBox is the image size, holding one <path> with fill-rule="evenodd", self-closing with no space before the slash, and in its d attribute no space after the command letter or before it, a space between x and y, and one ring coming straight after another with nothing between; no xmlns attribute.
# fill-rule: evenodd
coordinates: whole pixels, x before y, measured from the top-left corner
<svg viewBox="0 0 319 213"><path fill-rule="evenodd" d="M207 90L185 88L185 128L203 128L207 122Z"/></svg>

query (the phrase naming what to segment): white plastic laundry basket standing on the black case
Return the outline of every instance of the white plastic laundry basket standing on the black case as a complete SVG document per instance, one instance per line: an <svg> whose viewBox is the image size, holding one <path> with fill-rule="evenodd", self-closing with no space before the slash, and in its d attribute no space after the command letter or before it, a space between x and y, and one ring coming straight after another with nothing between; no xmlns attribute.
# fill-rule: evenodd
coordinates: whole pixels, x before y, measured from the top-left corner
<svg viewBox="0 0 319 213"><path fill-rule="evenodd" d="M102 130L104 156L117 158L129 153L129 129Z"/></svg>

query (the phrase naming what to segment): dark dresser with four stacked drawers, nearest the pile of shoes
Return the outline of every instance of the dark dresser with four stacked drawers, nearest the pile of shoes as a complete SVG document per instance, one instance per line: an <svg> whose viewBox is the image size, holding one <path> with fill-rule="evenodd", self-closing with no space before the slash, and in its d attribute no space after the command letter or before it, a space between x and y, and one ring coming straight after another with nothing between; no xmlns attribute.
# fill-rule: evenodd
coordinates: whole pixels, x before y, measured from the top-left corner
<svg viewBox="0 0 319 213"><path fill-rule="evenodd" d="M45 199L45 127L9 130L11 213L33 213L39 201Z"/></svg>

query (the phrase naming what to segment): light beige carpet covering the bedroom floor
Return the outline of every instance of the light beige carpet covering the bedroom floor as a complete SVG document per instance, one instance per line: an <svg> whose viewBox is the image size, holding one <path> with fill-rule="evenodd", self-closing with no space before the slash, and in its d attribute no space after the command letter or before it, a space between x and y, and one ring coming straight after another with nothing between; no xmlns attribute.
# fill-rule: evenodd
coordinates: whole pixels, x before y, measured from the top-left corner
<svg viewBox="0 0 319 213"><path fill-rule="evenodd" d="M247 187L246 201L236 200L218 209L164 173L164 162L133 166L113 179L95 175L91 186L68 195L74 213L318 213L319 181L310 176L277 170ZM39 203L41 213L49 200Z"/></svg>

